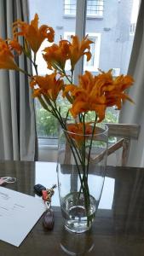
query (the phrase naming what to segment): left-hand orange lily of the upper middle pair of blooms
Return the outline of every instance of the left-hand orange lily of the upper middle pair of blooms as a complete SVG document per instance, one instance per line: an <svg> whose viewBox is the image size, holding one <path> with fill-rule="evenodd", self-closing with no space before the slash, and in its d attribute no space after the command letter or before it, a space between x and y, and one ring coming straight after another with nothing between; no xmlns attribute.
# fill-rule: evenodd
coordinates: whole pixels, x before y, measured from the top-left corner
<svg viewBox="0 0 144 256"><path fill-rule="evenodd" d="M60 40L59 45L53 44L50 47L43 49L45 54L43 54L44 60L48 64L48 68L64 70L66 60L69 58L69 42L66 40Z"/></svg>

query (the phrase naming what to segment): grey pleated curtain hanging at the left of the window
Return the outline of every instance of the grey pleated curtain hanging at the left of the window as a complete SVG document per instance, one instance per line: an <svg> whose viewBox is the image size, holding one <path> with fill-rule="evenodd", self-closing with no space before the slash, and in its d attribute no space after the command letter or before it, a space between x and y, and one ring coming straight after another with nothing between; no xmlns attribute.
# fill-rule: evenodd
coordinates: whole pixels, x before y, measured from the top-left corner
<svg viewBox="0 0 144 256"><path fill-rule="evenodd" d="M15 20L28 22L26 0L0 0L0 37L12 38ZM20 44L23 44L20 38ZM24 55L17 57L19 67L31 73ZM32 90L27 76L0 70L0 160L34 160L36 123Z"/></svg>

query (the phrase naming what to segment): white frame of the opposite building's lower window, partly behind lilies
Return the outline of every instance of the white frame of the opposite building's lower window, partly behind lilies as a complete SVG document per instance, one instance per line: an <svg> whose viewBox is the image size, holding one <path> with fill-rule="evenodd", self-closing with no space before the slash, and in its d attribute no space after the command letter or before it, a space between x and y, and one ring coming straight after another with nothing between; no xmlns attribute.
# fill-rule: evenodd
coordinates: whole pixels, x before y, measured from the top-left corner
<svg viewBox="0 0 144 256"><path fill-rule="evenodd" d="M74 32L64 32L64 39L71 35L74 35ZM101 33L86 33L89 35L89 38L95 38L95 49L94 49L94 65L86 65L87 61L84 61L84 71L87 70L89 72L98 72L99 61L100 61L100 47L101 47ZM70 70L70 63L66 63L66 70Z"/></svg>

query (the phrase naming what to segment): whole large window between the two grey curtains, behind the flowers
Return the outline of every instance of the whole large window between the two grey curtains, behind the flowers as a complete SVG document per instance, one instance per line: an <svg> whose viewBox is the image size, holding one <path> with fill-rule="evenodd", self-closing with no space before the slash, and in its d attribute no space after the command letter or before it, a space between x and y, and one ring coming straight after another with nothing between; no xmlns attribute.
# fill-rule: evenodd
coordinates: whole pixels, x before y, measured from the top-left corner
<svg viewBox="0 0 144 256"><path fill-rule="evenodd" d="M135 25L132 24L136 24L139 2L139 0L87 0L85 34L89 33L89 38L94 44L91 44L90 49L92 52L91 60L87 62L84 58L84 70L92 72L93 75L97 74L98 68L104 71L113 68L114 76L127 73L135 34ZM55 29L55 43L60 40L60 37L70 39L70 36L75 33L76 20L78 22L77 30L83 31L79 25L79 20L84 22L84 19L81 19L82 16L84 17L83 8L80 6L83 3L85 0L53 0L43 1L43 4L41 0L29 0L30 20L37 13L41 24L52 26ZM77 6L79 9L78 17L76 16ZM49 15L48 10L50 10ZM42 49L46 46L48 46L47 42L43 42L37 55L39 75L49 72L42 62ZM67 68L68 65L66 63ZM66 103L62 100L60 105L62 111L65 112ZM57 137L58 125L56 120L50 113L44 111L38 102L36 102L36 114L37 136L43 137L43 144L47 143L54 146L57 143L54 139ZM111 110L108 109L106 121L118 122L118 112L116 113L112 108ZM46 143L44 143L44 139Z"/></svg>

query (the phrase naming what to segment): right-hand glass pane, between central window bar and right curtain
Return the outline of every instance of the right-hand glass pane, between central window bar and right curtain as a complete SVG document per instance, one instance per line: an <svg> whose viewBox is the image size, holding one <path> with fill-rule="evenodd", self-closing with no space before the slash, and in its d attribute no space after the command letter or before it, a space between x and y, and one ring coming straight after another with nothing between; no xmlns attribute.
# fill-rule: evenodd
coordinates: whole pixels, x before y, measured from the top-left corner
<svg viewBox="0 0 144 256"><path fill-rule="evenodd" d="M84 59L84 70L90 70L94 75L98 73L98 68L103 71L112 68L114 76L127 73L139 2L139 0L87 1L87 15L95 9L96 4L96 10L101 10L103 14L102 19L86 19L86 34L89 34L94 44L91 46L91 60L87 62ZM91 37L90 34L95 37ZM99 44L96 35L101 38ZM104 121L117 120L118 112L112 108L108 109Z"/></svg>

